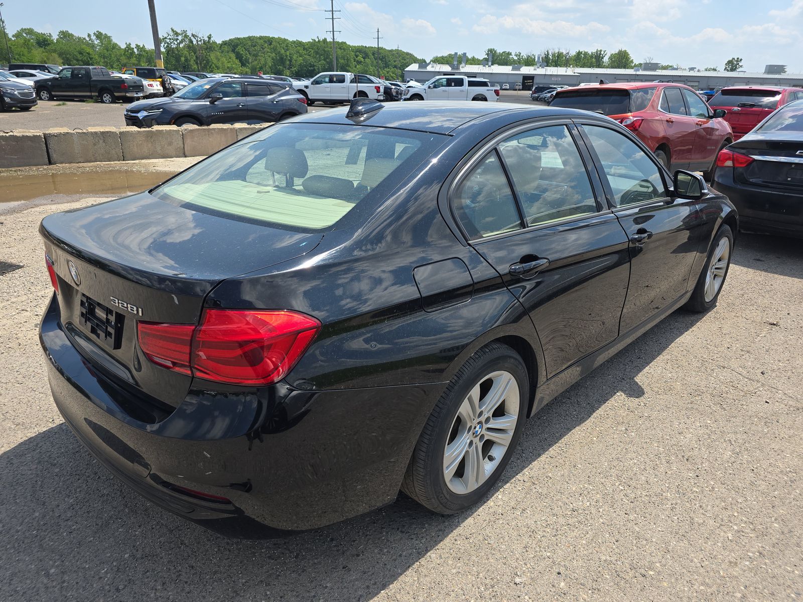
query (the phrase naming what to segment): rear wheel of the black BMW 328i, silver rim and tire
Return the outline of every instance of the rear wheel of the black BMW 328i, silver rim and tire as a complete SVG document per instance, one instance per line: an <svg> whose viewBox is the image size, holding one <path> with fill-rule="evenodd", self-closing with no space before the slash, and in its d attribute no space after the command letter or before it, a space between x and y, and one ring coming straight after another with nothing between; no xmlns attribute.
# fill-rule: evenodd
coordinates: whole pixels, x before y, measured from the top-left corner
<svg viewBox="0 0 803 602"><path fill-rule="evenodd" d="M444 515L479 502L510 461L528 400L527 368L520 356L498 343L479 349L426 421L402 490Z"/></svg>

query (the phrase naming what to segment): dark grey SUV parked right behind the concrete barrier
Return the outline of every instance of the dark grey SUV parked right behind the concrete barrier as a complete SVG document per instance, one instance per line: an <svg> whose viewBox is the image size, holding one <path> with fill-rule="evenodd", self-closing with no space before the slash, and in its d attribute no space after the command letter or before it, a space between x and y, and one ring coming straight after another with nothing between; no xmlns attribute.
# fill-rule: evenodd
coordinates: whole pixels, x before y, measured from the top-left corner
<svg viewBox="0 0 803 602"><path fill-rule="evenodd" d="M261 124L307 112L307 99L278 82L250 78L200 79L166 98L125 109L126 125Z"/></svg>

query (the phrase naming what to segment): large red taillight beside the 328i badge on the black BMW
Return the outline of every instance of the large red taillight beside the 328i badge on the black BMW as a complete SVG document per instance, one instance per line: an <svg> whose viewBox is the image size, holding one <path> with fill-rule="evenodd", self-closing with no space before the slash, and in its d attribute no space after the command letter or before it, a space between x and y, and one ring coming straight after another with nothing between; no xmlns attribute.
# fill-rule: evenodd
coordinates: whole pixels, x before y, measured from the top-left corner
<svg viewBox="0 0 803 602"><path fill-rule="evenodd" d="M234 384L283 379L320 330L295 311L209 309L201 325L139 323L149 360L182 374Z"/></svg>

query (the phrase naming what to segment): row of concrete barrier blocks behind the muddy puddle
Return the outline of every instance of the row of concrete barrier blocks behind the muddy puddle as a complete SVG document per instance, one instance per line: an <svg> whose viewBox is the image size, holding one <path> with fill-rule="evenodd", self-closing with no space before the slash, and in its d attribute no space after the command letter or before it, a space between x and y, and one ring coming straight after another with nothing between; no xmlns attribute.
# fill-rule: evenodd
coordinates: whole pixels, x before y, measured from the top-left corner
<svg viewBox="0 0 803 602"><path fill-rule="evenodd" d="M0 134L0 169L59 163L206 157L270 125L54 128L47 132L13 130L10 134Z"/></svg>

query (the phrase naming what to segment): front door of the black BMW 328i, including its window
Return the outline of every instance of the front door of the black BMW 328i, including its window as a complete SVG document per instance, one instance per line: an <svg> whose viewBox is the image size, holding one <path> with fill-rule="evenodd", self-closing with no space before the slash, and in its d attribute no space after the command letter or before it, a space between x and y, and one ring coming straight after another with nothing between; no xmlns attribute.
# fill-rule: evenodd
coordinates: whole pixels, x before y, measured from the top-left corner
<svg viewBox="0 0 803 602"><path fill-rule="evenodd" d="M669 196L652 155L625 134L602 125L582 128L630 240L630 286L619 327L624 334L686 293L703 220L697 201Z"/></svg>

